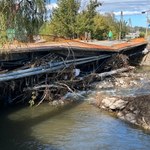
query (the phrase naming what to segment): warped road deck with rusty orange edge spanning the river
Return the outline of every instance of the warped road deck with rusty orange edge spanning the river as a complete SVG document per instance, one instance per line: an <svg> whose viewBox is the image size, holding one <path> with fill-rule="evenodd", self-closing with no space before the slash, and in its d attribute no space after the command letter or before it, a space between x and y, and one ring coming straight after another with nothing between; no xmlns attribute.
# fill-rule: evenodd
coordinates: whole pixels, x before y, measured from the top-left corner
<svg viewBox="0 0 150 150"><path fill-rule="evenodd" d="M65 40L59 42L37 42L28 44L14 42L12 44L5 45L0 50L1 52L9 51L10 53L22 53L31 51L60 50L61 48L71 48L86 51L118 52L141 44L147 44L147 42L143 38L134 39L130 41L84 42L79 40Z"/></svg>

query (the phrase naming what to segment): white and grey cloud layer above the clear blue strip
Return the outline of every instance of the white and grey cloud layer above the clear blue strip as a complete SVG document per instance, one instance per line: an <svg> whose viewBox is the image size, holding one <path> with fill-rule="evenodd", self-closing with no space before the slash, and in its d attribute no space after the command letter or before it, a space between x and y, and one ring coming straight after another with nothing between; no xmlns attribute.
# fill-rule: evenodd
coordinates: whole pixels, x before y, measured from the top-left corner
<svg viewBox="0 0 150 150"><path fill-rule="evenodd" d="M81 0L81 8L85 9L90 0ZM120 15L123 11L124 15L136 15L141 14L142 11L150 9L150 0L98 0L102 3L102 6L98 8L100 13L113 12L115 15ZM47 4L47 10L56 8L56 1Z"/></svg>

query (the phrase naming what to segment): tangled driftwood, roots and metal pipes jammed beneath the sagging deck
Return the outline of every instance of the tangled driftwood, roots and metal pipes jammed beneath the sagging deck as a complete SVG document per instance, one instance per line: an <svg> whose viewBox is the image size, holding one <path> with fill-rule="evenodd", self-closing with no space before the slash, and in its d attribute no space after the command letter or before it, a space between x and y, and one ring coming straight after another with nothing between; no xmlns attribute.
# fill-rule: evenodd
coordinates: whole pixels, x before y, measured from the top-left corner
<svg viewBox="0 0 150 150"><path fill-rule="evenodd" d="M0 97L6 99L5 103L29 101L30 105L34 105L35 100L37 105L44 100L62 100L68 92L83 98L77 92L91 88L92 82L131 69L126 56L122 55L70 59L50 54L20 69L0 74Z"/></svg>

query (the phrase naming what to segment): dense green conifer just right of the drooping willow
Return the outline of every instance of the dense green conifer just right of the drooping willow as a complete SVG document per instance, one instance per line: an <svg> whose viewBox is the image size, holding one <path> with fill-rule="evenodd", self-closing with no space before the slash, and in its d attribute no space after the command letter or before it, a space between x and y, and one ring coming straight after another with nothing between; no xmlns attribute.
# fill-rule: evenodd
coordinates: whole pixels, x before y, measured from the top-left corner
<svg viewBox="0 0 150 150"><path fill-rule="evenodd" d="M76 36L76 18L79 8L79 0L58 0L58 7L53 10L51 17L51 26L55 35L66 38Z"/></svg>

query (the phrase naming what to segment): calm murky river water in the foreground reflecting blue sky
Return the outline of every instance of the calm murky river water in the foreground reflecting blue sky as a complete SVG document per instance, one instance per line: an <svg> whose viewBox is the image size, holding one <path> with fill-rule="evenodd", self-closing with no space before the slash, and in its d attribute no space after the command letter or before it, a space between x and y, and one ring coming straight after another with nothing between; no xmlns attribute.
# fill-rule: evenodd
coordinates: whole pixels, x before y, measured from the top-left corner
<svg viewBox="0 0 150 150"><path fill-rule="evenodd" d="M101 112L87 101L0 112L0 150L149 149L150 133Z"/></svg>

